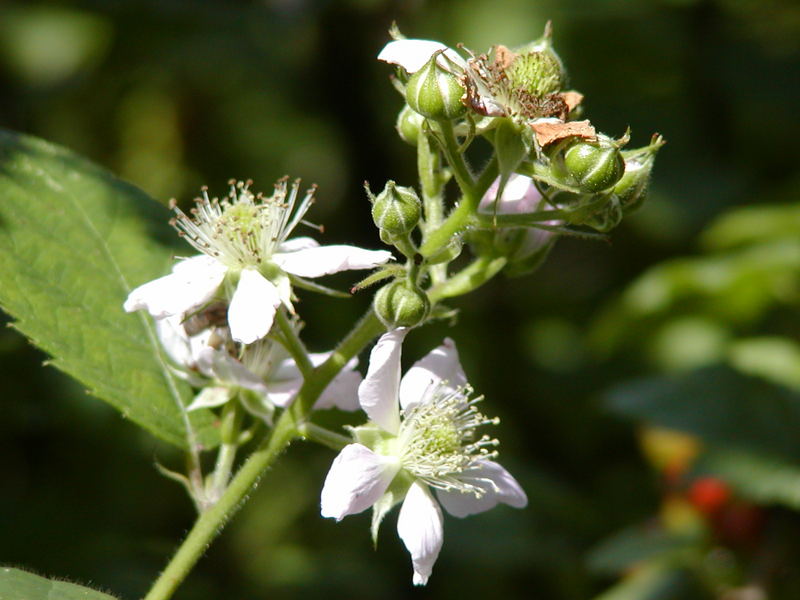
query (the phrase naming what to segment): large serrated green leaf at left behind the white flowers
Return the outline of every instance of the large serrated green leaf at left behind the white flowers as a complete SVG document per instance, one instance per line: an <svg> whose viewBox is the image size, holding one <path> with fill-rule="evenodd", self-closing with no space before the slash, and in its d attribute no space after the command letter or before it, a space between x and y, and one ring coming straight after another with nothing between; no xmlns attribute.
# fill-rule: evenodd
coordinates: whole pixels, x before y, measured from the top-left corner
<svg viewBox="0 0 800 600"><path fill-rule="evenodd" d="M67 150L0 130L0 305L53 365L124 416L177 446L212 446L213 416L190 423L190 389L152 321L122 310L133 287L169 268L147 234L153 206Z"/></svg>

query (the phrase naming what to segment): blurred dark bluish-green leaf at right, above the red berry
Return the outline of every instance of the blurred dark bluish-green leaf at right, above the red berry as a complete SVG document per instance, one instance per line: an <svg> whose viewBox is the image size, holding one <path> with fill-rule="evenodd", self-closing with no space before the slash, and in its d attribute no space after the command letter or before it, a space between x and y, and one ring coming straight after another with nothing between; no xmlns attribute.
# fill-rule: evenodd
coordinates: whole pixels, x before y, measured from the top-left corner
<svg viewBox="0 0 800 600"><path fill-rule="evenodd" d="M800 458L800 395L726 367L614 388L611 408L709 444Z"/></svg>

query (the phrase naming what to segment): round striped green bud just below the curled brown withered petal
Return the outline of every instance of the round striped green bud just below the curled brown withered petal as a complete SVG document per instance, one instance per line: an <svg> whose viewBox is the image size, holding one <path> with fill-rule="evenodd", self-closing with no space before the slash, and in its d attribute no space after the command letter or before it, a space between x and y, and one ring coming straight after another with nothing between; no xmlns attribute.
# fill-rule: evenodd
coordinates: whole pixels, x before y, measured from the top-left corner
<svg viewBox="0 0 800 600"><path fill-rule="evenodd" d="M565 140L554 149L553 177L579 192L596 193L617 183L625 172L620 142L599 135L594 142Z"/></svg>

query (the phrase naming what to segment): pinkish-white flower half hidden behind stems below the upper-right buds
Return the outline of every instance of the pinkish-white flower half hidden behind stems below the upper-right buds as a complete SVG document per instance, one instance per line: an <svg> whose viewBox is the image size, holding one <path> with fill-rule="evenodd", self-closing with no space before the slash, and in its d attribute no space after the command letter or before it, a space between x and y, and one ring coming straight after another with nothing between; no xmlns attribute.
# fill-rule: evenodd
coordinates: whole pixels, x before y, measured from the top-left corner
<svg viewBox="0 0 800 600"><path fill-rule="evenodd" d="M512 173L508 178L502 194L498 198L500 190L500 177L494 180L489 189L481 198L478 204L478 212L484 215L516 215L533 213L541 210L552 210L539 190L533 179L518 173ZM547 227L559 227L564 223L558 220L544 221L542 225ZM513 230L511 230L513 232ZM539 227L525 228L521 240L516 240L513 255L510 259L523 260L535 252L551 244L558 236L557 233Z"/></svg>

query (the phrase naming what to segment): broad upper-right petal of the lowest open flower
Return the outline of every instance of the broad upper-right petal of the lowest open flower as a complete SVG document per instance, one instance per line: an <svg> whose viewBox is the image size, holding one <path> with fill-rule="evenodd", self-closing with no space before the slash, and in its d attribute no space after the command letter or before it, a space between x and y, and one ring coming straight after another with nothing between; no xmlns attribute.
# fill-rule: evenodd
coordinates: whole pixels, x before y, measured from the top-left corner
<svg viewBox="0 0 800 600"><path fill-rule="evenodd" d="M426 402L430 392L443 381L448 389L466 385L467 376L458 360L456 344L445 338L442 345L422 357L403 376L400 382L400 406L405 410L412 404Z"/></svg>

